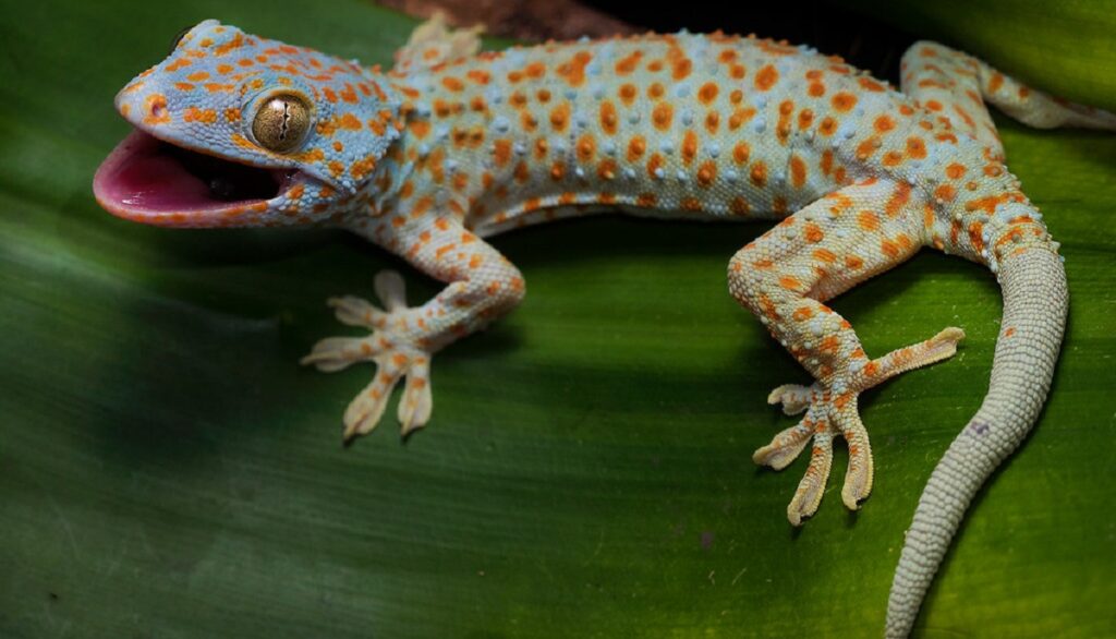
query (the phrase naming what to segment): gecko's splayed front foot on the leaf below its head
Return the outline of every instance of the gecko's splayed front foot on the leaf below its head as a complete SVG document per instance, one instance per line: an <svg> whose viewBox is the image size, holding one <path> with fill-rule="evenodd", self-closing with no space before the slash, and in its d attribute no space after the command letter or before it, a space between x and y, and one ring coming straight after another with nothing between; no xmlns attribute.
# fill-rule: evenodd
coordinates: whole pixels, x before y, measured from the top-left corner
<svg viewBox="0 0 1116 639"><path fill-rule="evenodd" d="M327 337L315 344L310 354L299 361L324 372L339 371L357 362L375 362L376 376L345 411L345 444L376 428L392 391L402 378L406 378L406 383L400 400L398 419L404 437L430 421L433 407L431 351L423 340L414 337L423 320L415 309L407 307L400 274L381 271L376 275L375 287L384 311L352 296L333 297L327 302L343 324L372 328L371 335Z"/></svg>

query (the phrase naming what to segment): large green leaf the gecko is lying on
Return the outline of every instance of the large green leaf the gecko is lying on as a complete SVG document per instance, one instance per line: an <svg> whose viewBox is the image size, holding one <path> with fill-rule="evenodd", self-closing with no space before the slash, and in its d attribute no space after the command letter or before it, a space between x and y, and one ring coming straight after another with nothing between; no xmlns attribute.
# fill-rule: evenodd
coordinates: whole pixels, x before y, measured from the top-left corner
<svg viewBox="0 0 1116 639"><path fill-rule="evenodd" d="M369 296L385 267L412 301L436 283L340 233L131 225L89 184L127 132L113 95L185 25L386 64L414 22L340 0L4 13L0 635L879 635L918 494L987 389L990 274L924 252L836 301L870 353L969 337L865 397L874 494L844 509L838 451L800 531L785 509L805 462L750 455L791 423L768 391L807 375L725 292L764 225L604 217L497 238L527 301L435 357L426 430L404 445L385 423L345 450L372 370L296 364L340 332L325 298ZM992 57L994 38L956 34ZM1091 77L1076 95L1114 104L1114 74L1064 64L1078 75L1059 82ZM1070 326L1041 422L978 498L920 629L1110 635L1116 136L998 124L1064 242Z"/></svg>

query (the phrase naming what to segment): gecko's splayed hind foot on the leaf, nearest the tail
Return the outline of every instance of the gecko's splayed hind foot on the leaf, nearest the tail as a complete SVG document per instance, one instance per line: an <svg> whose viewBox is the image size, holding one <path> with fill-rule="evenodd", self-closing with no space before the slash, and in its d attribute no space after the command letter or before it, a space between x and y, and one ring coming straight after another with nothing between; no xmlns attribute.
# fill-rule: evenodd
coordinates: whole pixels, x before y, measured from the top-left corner
<svg viewBox="0 0 1116 639"><path fill-rule="evenodd" d="M958 342L964 336L961 328L950 327L925 342L892 351L870 362L854 360L844 381L819 381L810 387L785 384L771 391L768 403L781 403L786 414L798 414L804 410L806 414L798 425L783 430L775 436L771 444L757 450L752 460L781 470L801 454L811 438L814 440L809 466L787 507L791 525L801 525L804 519L817 512L829 479L833 440L837 436L848 442L849 455L841 500L849 509L859 507L860 502L872 493L873 480L872 446L857 410L859 394L899 373L952 356L956 353Z"/></svg>

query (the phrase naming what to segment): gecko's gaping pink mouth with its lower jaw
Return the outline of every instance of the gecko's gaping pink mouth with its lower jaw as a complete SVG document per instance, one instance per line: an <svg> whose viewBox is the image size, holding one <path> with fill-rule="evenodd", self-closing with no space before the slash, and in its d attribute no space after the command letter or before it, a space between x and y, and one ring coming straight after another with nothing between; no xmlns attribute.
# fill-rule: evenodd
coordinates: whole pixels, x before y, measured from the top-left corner
<svg viewBox="0 0 1116 639"><path fill-rule="evenodd" d="M230 162L135 130L97 169L93 191L102 207L128 220L215 226L266 210L267 201L292 187L298 174Z"/></svg>

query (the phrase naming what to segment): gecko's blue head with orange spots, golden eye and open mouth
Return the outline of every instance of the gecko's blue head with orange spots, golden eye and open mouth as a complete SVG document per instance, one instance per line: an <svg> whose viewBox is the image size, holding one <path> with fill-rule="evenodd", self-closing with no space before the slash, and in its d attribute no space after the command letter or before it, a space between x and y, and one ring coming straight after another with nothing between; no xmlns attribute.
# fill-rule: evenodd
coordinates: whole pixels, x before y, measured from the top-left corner
<svg viewBox="0 0 1116 639"><path fill-rule="evenodd" d="M401 99L356 61L205 20L116 95L135 130L97 201L170 227L308 223L363 204Z"/></svg>

